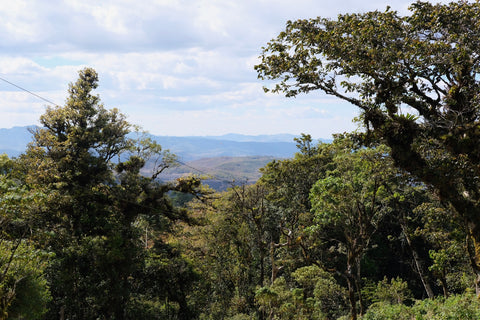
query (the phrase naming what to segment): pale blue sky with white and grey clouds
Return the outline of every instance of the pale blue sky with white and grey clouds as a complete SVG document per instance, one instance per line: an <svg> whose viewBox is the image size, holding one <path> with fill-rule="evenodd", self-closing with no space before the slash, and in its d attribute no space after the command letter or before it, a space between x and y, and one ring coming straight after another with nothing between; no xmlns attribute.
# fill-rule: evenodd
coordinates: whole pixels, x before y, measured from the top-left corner
<svg viewBox="0 0 480 320"><path fill-rule="evenodd" d="M385 10L395 0L0 0L0 77L63 105L78 71L99 74L106 108L165 136L357 128L356 107L321 93L266 94L262 46L288 20ZM0 81L0 128L39 124L51 105Z"/></svg>

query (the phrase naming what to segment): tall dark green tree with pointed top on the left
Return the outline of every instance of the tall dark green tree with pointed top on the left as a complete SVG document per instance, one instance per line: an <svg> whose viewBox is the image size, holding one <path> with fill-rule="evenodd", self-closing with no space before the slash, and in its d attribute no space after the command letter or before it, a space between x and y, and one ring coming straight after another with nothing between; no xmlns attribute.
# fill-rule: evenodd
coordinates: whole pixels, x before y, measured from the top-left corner
<svg viewBox="0 0 480 320"><path fill-rule="evenodd" d="M115 201L111 160L130 147L130 125L92 94L97 82L94 70L80 71L65 107L49 107L41 116L23 160L27 183L48 195L39 216L50 232L45 245L55 253L48 269L50 312L121 319L139 252L130 227L136 212L120 211L129 204Z"/></svg>

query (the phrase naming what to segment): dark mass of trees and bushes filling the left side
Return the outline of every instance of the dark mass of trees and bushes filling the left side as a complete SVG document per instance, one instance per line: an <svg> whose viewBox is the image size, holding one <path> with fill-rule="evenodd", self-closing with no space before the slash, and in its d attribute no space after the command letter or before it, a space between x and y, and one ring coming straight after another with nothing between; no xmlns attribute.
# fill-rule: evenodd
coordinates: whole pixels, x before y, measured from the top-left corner
<svg viewBox="0 0 480 320"><path fill-rule="evenodd" d="M166 243L188 220L161 184L175 157L92 94L84 69L64 107L48 108L18 159L1 158L0 318L165 319L193 314L186 295L197 275ZM141 175L153 159L149 175Z"/></svg>

